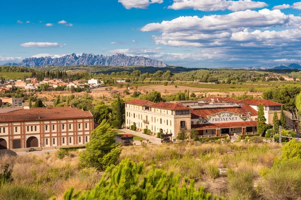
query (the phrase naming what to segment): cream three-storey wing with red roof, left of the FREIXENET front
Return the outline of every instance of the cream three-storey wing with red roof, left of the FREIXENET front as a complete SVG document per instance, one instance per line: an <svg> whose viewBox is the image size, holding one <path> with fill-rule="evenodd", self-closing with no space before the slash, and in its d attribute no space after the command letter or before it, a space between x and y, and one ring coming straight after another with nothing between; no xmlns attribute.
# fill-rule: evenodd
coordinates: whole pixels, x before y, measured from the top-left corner
<svg viewBox="0 0 301 200"><path fill-rule="evenodd" d="M180 129L191 129L190 108L175 102L154 103L133 99L125 103L125 126L135 125L138 130L173 134L176 138Z"/></svg>

